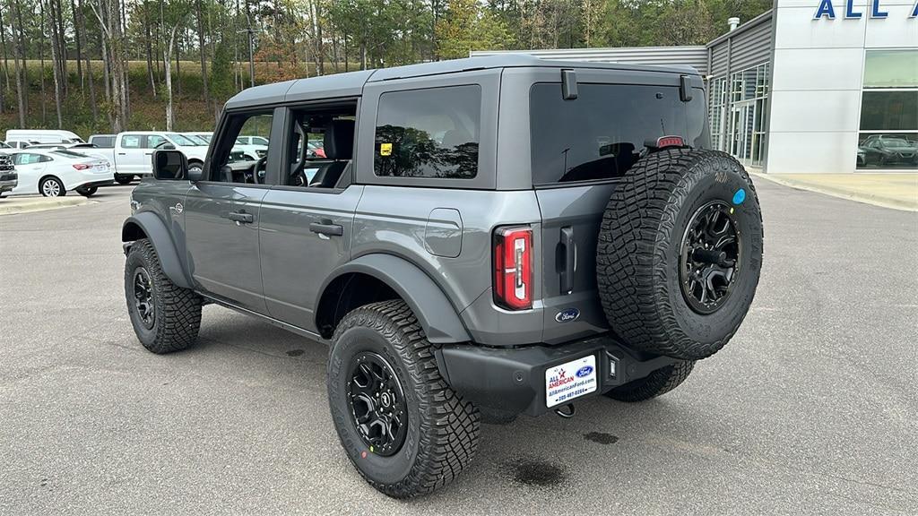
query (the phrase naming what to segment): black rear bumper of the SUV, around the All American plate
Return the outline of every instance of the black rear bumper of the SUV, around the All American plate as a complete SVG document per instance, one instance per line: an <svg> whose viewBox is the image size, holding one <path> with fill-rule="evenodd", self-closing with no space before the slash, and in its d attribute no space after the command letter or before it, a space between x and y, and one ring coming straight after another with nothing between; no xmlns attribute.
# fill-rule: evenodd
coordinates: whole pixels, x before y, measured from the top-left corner
<svg viewBox="0 0 918 516"><path fill-rule="evenodd" d="M545 372L588 355L596 357L598 386L594 392L546 406ZM596 396L681 362L666 356L634 352L609 336L548 346L489 348L475 344L444 344L436 352L440 371L450 387L480 407L508 414L541 415L568 402Z"/></svg>

